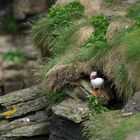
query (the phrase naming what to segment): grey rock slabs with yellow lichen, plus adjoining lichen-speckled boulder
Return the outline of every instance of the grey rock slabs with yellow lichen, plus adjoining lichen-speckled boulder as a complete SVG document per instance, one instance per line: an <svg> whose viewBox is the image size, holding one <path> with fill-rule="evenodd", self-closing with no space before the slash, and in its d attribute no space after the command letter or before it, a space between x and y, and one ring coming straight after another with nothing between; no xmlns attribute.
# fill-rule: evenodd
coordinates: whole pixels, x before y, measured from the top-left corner
<svg viewBox="0 0 140 140"><path fill-rule="evenodd" d="M78 99L49 105L48 96L39 85L1 96L0 138L83 140L79 123L88 115L87 105Z"/></svg>

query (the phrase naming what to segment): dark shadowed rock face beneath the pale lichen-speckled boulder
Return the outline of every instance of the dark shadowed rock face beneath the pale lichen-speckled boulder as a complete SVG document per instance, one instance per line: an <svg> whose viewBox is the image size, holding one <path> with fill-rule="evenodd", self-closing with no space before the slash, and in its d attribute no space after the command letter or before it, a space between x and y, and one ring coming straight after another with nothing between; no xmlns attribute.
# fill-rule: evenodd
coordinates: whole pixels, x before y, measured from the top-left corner
<svg viewBox="0 0 140 140"><path fill-rule="evenodd" d="M54 116L49 140L85 140L80 124Z"/></svg>

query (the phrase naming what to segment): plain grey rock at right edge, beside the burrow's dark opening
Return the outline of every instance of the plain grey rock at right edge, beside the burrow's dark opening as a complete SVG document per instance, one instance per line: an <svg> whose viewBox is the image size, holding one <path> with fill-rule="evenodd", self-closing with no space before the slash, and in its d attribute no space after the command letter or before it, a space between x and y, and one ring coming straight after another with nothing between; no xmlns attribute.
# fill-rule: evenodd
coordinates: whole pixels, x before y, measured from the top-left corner
<svg viewBox="0 0 140 140"><path fill-rule="evenodd" d="M140 91L136 92L132 99L128 101L123 112L140 112Z"/></svg>

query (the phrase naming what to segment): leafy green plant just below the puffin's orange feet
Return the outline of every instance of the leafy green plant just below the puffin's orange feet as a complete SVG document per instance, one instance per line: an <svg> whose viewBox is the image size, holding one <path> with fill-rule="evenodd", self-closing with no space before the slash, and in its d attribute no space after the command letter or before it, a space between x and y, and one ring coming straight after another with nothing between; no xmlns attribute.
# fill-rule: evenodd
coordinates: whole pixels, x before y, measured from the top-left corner
<svg viewBox="0 0 140 140"><path fill-rule="evenodd" d="M98 96L88 95L87 102L94 114L107 111L107 108L102 105Z"/></svg>

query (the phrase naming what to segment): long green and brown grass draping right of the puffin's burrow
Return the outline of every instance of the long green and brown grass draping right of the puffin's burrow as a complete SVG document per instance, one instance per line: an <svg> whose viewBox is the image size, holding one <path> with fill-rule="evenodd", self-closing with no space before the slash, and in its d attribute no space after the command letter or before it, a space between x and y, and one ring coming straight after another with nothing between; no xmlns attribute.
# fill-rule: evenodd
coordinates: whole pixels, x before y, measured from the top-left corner
<svg viewBox="0 0 140 140"><path fill-rule="evenodd" d="M124 29L112 39L110 45L119 50L121 59L117 64L113 64L110 75L118 89L118 97L126 101L137 90L140 89L140 28L133 26ZM114 56L114 59L118 57ZM108 63L108 62L106 62Z"/></svg>

